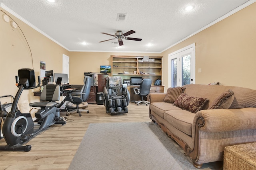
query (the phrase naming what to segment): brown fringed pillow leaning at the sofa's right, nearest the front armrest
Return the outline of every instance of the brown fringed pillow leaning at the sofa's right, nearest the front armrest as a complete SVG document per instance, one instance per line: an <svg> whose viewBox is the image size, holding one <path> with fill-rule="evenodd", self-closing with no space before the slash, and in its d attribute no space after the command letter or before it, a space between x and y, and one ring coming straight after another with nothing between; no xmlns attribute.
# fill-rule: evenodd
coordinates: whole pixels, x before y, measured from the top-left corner
<svg viewBox="0 0 256 170"><path fill-rule="evenodd" d="M208 109L228 109L234 100L234 92L230 89L228 92L223 92L216 98Z"/></svg>

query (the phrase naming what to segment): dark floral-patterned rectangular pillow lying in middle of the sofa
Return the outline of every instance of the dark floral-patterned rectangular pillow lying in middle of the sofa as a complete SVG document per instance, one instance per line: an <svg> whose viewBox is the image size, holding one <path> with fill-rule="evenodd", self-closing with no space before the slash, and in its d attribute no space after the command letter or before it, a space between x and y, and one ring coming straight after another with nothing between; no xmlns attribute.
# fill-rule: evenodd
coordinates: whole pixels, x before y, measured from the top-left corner
<svg viewBox="0 0 256 170"><path fill-rule="evenodd" d="M209 99L207 98L192 97L183 93L180 94L173 105L188 110L192 113L196 113L199 110L204 109L204 106L207 104L207 102L209 102Z"/></svg>

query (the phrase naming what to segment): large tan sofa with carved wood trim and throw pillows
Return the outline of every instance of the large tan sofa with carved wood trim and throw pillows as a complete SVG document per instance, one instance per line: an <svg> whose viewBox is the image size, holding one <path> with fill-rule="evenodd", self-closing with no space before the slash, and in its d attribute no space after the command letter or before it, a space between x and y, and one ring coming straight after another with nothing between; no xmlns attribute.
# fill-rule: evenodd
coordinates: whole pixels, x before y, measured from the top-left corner
<svg viewBox="0 0 256 170"><path fill-rule="evenodd" d="M197 168L223 160L226 146L256 142L256 90L188 84L150 93L149 100L149 117Z"/></svg>

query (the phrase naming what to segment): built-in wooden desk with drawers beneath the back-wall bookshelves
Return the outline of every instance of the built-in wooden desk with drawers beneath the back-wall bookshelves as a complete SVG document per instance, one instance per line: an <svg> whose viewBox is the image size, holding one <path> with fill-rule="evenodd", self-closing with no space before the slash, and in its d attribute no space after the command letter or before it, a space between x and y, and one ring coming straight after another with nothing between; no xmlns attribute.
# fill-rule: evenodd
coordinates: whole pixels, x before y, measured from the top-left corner
<svg viewBox="0 0 256 170"><path fill-rule="evenodd" d="M134 94L133 88L140 88L140 85L138 85L138 86L127 86L127 89L130 92L131 102L141 100L140 95ZM151 86L150 93L164 93L164 86Z"/></svg>

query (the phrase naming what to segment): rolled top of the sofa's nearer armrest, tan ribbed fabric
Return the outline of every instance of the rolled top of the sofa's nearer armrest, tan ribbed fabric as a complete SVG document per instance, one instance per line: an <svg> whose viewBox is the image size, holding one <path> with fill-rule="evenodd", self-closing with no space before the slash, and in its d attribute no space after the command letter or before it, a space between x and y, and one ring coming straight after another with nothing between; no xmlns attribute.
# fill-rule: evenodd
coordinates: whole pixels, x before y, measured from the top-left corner
<svg viewBox="0 0 256 170"><path fill-rule="evenodd" d="M192 129L198 126L198 119L204 121L200 131L221 132L256 129L256 108L207 109L196 113Z"/></svg>

